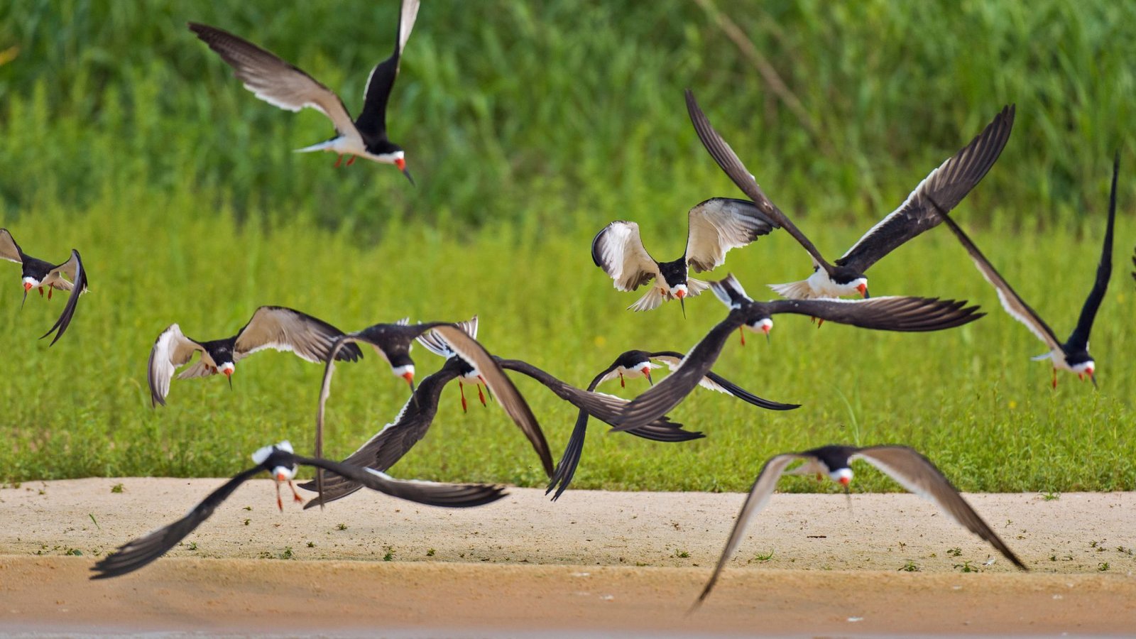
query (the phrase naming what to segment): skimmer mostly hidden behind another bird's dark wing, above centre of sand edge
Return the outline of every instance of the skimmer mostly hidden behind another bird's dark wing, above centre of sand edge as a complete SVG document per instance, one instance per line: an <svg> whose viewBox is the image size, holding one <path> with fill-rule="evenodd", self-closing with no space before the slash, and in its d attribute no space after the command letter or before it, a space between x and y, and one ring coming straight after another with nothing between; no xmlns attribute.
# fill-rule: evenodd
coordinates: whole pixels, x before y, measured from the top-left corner
<svg viewBox="0 0 1136 639"><path fill-rule="evenodd" d="M683 354L674 350L659 350L654 352L648 352L645 350L628 350L620 354L610 366L595 375L595 377L592 379L592 382L587 384L587 390L595 391L601 383L615 380L616 377L619 379L620 387L625 385L624 381L626 379L635 377L646 377L648 383L653 384L654 382L651 380L651 371L660 367L660 365L654 362L665 363L674 372L678 370L682 360ZM779 401L762 399L713 372L707 373L707 375L699 381L698 385L716 390L718 392L733 395L743 401L754 406L760 406L761 408L768 408L770 410L792 410L801 407L800 404L782 404ZM565 447L565 453L560 457L560 462L557 464L557 470L552 473L552 481L544 491L544 493L548 495L549 492L556 490L552 495L553 501L560 498L560 495L563 493L565 489L568 488L568 484L571 483L573 478L576 475L576 467L579 466L579 459L584 451L584 438L587 434L587 422L588 413L587 410L582 409L579 415L576 416L576 425L573 426L571 435L568 438L568 446ZM630 430L628 432L640 434L637 430ZM640 437L643 435L640 434Z"/></svg>

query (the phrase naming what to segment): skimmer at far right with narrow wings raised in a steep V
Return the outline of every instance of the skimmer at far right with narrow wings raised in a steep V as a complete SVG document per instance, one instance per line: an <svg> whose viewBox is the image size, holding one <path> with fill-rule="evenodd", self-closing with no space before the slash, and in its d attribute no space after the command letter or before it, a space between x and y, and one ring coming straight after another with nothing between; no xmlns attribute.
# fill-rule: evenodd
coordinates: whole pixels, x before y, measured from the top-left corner
<svg viewBox="0 0 1136 639"><path fill-rule="evenodd" d="M951 231L962 242L963 248L970 254L978 272L986 277L986 281L997 291L997 298L1002 302L1002 308L1011 317L1021 322L1034 333L1037 339L1045 342L1050 349L1034 357L1035 360L1049 359L1053 364L1053 388L1058 388L1058 370L1076 373L1078 377L1088 376L1096 385L1096 362L1088 355L1088 333L1093 330L1093 321L1096 312L1101 308L1104 292L1109 288L1109 277L1112 276L1112 225L1117 217L1117 174L1120 172L1120 152L1117 152L1112 161L1112 192L1109 196L1109 222L1104 229L1104 246L1101 248L1101 262L1096 265L1096 281L1093 282L1093 290L1085 299L1085 306L1080 309L1080 318L1077 320L1077 327L1069 334L1069 339L1061 342L1053 329L1042 320L1036 310L1010 287L1010 283L994 268L994 265L986 259L986 256L978 250L970 238L959 227L945 211L939 209L941 217L951 227Z"/></svg>

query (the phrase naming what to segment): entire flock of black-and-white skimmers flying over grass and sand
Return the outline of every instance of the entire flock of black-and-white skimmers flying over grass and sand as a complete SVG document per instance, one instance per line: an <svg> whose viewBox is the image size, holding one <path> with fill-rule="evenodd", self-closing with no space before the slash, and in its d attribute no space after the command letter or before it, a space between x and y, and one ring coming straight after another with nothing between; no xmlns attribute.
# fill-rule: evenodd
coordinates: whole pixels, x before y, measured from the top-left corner
<svg viewBox="0 0 1136 639"><path fill-rule="evenodd" d="M189 27L233 67L234 75L258 98L293 111L314 108L332 121L336 133L334 138L298 151L334 152L339 156L335 166L341 165L343 156L349 157L348 165L357 157L393 164L412 184L414 179L407 169L403 149L386 135L386 106L418 6L419 0L402 0L394 53L371 70L362 111L356 119L351 118L343 101L333 91L269 51L217 27L197 23L190 23ZM546 492L553 493L553 500L571 482L580 460L591 417L611 425L615 431L626 431L654 441L679 442L703 437L700 432L685 430L683 424L667 417L667 413L695 387L728 393L770 410L797 408L799 405L795 404L758 397L711 370L729 335L740 331L743 345L746 331L763 333L768 339L774 325L772 316L778 314L805 315L816 322L883 331L939 331L978 320L984 314L977 313L977 306L966 306L964 301L921 297L872 298L868 293L866 272L872 264L939 223L945 223L958 236L978 271L997 291L1005 312L1045 343L1047 351L1035 359L1050 359L1053 366L1053 385L1056 385L1059 370L1087 376L1096 384L1096 365L1088 354L1088 338L1112 269L1119 153L1113 160L1108 223L1096 279L1076 327L1069 339L1062 342L949 215L997 160L1013 126L1013 106L1003 108L969 144L932 171L899 208L868 230L835 262L825 259L809 238L765 194L753 174L711 126L690 90L686 91L686 106L694 130L710 156L749 199L711 198L690 209L686 250L675 260L658 262L652 258L640 239L638 225L628 221L612 222L595 235L592 259L611 276L615 288L620 291L648 287L646 293L628 307L634 310L651 310L665 301L677 299L685 315L686 298L708 289L712 291L728 308L726 318L687 352L628 350L598 373L586 389L578 389L529 363L491 355L476 340L476 316L457 323L410 324L402 320L343 333L327 322L299 310L262 306L235 335L204 341L186 337L177 324L172 324L158 335L150 351L148 381L154 407L166 404L176 370L186 364L190 366L177 375L178 379L224 374L232 384L237 362L267 348L292 351L309 362L324 363L316 418L315 456L295 455L286 441L257 450L252 455L254 466L211 492L184 517L125 543L98 562L92 569L95 572L92 579L126 574L157 559L206 521L239 486L261 471L267 471L275 480L277 506L282 509L282 483L289 484L295 501L303 501L292 482L301 465L316 468L316 479L300 484L300 488L317 493L317 498L304 508L317 504L323 506L361 488L443 507L479 506L500 499L506 492L498 486L404 481L386 474L387 468L425 437L437 413L442 390L453 380L459 384L462 409L467 406L465 387L475 387L478 399L485 404L484 387L520 428L551 480ZM792 235L812 260L812 274L805 280L770 287L784 299L755 301L733 275L717 282L704 282L690 276L692 271L698 273L721 266L727 251L744 247L777 229ZM66 262L56 265L25 254L10 232L0 229L0 257L20 265L24 301L32 289L37 289L41 296L47 289L48 298L53 290L69 291L62 313L43 335L55 333L51 341L55 345L70 325L80 294L87 290L87 272L80 252L73 249ZM1136 277L1136 273L1133 275ZM847 296L858 296L859 299L844 299ZM444 358L442 367L421 379L417 385L415 363L410 357L410 348L415 341ZM360 345L373 347L391 372L408 382L410 399L394 421L343 462L324 459L320 457L324 412L335 362L362 358ZM198 359L191 364L194 356ZM651 371L662 365L670 370L670 375L654 383ZM536 417L504 371L537 380L579 409L569 442L558 464L552 462L548 441ZM620 385L624 385L626 380L636 377L645 377L651 387L629 401L596 392L596 388L604 382L618 379ZM1016 566L1027 570L943 473L918 451L905 446L825 446L802 453L776 455L766 462L698 603L709 595L741 542L749 520L768 503L783 474L816 473L818 478L827 475L847 492L853 476L850 465L855 459L871 464L905 489L930 499L952 520L989 542ZM797 462L800 464L793 466Z"/></svg>

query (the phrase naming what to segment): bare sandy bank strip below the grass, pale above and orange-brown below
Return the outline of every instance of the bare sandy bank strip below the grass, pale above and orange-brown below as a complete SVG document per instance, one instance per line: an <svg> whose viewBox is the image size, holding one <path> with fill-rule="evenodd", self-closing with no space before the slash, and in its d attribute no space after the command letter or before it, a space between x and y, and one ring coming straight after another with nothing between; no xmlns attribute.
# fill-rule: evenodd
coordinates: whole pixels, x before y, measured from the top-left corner
<svg viewBox="0 0 1136 639"><path fill-rule="evenodd" d="M512 489L444 511L356 493L324 512L285 503L281 513L272 482L258 480L166 558L86 579L99 556L220 482L0 490L0 632L1136 632L1136 493L967 496L1029 573L911 495L853 495L851 507L843 495L777 495L688 613L743 495L569 491L553 504Z"/></svg>

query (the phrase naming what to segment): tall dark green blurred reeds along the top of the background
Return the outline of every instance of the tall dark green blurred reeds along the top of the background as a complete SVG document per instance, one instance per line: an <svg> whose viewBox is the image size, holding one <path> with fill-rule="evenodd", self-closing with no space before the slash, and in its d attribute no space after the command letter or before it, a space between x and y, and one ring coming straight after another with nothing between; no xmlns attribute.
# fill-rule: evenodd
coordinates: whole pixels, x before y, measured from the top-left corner
<svg viewBox="0 0 1136 639"><path fill-rule="evenodd" d="M185 28L245 36L358 113L393 47L395 0L6 2L0 50L19 55L0 66L0 206L10 218L187 180L241 217L310 211L365 238L392 216L440 227L535 217L546 231L673 221L722 189L686 86L782 208L825 221L891 210L1008 102L1013 136L971 197L979 210L1005 207L1027 225L1080 215L1112 151L1133 150L1136 3L703 5L424 2L390 107L420 181L410 189L389 167L332 171L331 156L293 155L331 135L326 118L257 100Z"/></svg>

